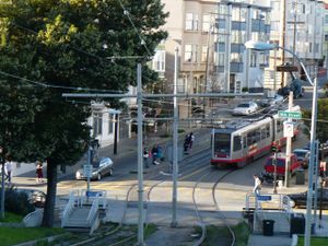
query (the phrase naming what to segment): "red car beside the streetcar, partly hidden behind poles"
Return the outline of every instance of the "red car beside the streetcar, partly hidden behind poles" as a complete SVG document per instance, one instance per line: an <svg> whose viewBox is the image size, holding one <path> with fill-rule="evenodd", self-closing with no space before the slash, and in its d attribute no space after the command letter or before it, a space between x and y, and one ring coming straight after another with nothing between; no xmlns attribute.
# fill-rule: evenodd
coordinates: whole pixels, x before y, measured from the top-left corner
<svg viewBox="0 0 328 246"><path fill-rule="evenodd" d="M270 156L266 161L265 171L266 174L274 173L274 164L273 164L274 155ZM284 177L285 173L285 153L278 153L277 154L277 176ZM291 163L290 163L290 172L291 174L295 174L297 169L302 168L302 162L297 161L297 156L295 154L291 154Z"/></svg>

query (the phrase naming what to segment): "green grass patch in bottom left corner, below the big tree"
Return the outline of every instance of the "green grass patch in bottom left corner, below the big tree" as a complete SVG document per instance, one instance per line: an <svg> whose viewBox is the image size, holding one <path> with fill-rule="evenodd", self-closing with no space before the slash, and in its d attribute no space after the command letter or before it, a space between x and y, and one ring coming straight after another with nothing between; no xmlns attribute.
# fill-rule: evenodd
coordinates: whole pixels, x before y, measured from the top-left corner
<svg viewBox="0 0 328 246"><path fill-rule="evenodd" d="M15 245L28 241L55 236L65 233L62 229L45 229L45 227L0 227L1 246Z"/></svg>

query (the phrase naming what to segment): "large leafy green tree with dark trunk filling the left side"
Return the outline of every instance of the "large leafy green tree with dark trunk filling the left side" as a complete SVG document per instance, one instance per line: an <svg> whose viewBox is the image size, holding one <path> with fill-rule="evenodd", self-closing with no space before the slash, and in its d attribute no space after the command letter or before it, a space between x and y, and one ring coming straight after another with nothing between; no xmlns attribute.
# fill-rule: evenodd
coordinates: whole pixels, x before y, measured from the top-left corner
<svg viewBox="0 0 328 246"><path fill-rule="evenodd" d="M43 225L52 226L57 167L74 164L90 140L90 107L61 94L126 92L137 62L143 82L155 82L147 61L167 35L167 13L160 0L11 3L0 4L0 145L15 161L47 161Z"/></svg>

